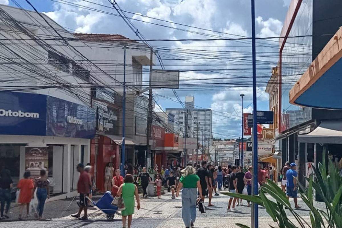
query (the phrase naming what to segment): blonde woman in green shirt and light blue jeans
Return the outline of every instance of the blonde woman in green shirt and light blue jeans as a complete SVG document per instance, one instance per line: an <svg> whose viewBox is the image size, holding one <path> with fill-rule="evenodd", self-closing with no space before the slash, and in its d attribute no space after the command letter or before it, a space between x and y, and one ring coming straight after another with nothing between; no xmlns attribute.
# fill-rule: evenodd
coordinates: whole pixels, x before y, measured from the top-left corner
<svg viewBox="0 0 342 228"><path fill-rule="evenodd" d="M196 201L197 189L199 197L202 198L202 188L199 177L195 174L195 169L188 165L181 171L183 175L179 180L177 187L176 197L179 196L179 190L183 187L182 191L182 218L185 227L194 227L196 220ZM197 189L196 189L197 188Z"/></svg>

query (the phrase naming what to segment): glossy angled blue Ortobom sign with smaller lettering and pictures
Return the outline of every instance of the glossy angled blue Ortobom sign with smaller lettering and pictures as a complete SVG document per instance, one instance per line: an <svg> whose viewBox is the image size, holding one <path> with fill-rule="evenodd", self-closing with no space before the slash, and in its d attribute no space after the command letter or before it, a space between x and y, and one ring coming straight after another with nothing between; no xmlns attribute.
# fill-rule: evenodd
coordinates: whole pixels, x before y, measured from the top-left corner
<svg viewBox="0 0 342 228"><path fill-rule="evenodd" d="M48 96L47 110L47 135L73 138L94 137L96 116L91 108Z"/></svg>

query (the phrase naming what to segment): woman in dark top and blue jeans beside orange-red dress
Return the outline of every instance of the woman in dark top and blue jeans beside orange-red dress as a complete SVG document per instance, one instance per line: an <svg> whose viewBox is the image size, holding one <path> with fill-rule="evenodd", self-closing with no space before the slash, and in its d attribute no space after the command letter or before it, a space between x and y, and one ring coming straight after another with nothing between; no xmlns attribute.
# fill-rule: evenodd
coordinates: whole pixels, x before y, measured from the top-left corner
<svg viewBox="0 0 342 228"><path fill-rule="evenodd" d="M50 198L49 190L50 181L46 177L46 171L40 170L40 177L35 180L35 188L32 191L32 199L34 198L34 192L37 188L36 197L38 200L37 211L35 213L35 218L42 219L43 210L46 199ZM39 216L39 217L38 217Z"/></svg>

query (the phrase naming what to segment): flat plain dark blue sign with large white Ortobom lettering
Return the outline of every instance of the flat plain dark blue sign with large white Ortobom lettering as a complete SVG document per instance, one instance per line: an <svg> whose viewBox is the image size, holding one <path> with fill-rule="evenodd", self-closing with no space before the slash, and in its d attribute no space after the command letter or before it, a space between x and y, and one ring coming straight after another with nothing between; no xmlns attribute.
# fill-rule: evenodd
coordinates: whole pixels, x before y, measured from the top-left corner
<svg viewBox="0 0 342 228"><path fill-rule="evenodd" d="M0 97L0 134L46 134L46 95L0 92Z"/></svg>

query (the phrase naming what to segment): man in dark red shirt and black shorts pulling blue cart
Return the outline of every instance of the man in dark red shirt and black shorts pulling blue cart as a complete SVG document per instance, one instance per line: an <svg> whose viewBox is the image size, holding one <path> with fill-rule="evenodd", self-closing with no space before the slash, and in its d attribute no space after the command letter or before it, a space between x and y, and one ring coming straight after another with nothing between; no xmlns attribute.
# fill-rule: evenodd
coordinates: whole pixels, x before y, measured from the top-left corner
<svg viewBox="0 0 342 228"><path fill-rule="evenodd" d="M76 215L71 215L74 218L80 220L88 220L88 199L90 192L89 176L86 171L84 171L83 163L77 165L77 171L80 173L80 177L77 182L77 192L80 193L80 208ZM84 212L83 217L80 218L82 211Z"/></svg>

